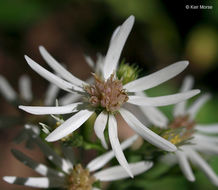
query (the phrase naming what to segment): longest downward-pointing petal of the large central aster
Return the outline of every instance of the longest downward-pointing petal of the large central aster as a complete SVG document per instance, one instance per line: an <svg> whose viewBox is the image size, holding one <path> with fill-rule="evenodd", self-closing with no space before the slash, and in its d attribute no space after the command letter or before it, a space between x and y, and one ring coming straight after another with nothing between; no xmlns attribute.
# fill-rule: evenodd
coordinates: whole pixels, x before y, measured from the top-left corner
<svg viewBox="0 0 218 190"><path fill-rule="evenodd" d="M111 147L114 151L114 154L117 158L117 161L126 170L126 172L129 174L129 176L133 177L133 174L129 168L129 164L128 164L128 162L123 154L122 148L120 146L120 142L118 140L117 121L113 115L109 115L108 133L109 133Z"/></svg>

